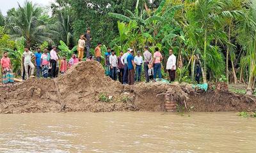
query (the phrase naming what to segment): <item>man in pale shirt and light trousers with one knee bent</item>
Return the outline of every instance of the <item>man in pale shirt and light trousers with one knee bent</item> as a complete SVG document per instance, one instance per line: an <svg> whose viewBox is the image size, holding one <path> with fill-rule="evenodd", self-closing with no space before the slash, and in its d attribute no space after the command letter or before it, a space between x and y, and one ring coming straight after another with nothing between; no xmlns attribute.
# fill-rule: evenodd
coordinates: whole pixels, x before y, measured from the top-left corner
<svg viewBox="0 0 256 153"><path fill-rule="evenodd" d="M24 64L24 68L25 68L25 72L26 72L26 77L27 80L29 78L29 67L31 69L30 71L30 75L31 78L34 77L34 71L35 71L35 66L34 64L31 62L31 59L35 59L35 55L33 54L33 52L30 52L28 47L25 47L25 52L22 54L22 62Z"/></svg>

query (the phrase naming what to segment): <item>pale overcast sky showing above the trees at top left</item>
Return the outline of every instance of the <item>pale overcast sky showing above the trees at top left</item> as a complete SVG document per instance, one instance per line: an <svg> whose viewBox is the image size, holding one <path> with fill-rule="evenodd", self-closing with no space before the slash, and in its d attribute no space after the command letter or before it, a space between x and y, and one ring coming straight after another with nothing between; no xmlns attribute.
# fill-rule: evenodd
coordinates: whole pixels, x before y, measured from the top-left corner
<svg viewBox="0 0 256 153"><path fill-rule="evenodd" d="M18 8L18 3L20 5L24 5L24 2L26 0L0 0L0 10L3 15L6 15L6 12L10 10L11 8ZM50 6L50 3L54 0L29 0L32 1L32 3L36 3L38 5L42 6Z"/></svg>

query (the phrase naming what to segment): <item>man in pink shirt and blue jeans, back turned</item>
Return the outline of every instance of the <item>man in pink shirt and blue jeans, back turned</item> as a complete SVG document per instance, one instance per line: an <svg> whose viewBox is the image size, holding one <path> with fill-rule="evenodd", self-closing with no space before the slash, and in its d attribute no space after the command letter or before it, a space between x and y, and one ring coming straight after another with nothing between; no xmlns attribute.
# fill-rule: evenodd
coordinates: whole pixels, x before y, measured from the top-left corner
<svg viewBox="0 0 256 153"><path fill-rule="evenodd" d="M156 75L158 74L159 79L162 78L161 73L161 61L163 60L162 54L159 52L159 48L155 48L154 58L153 58L153 64L154 64L154 81L156 81Z"/></svg>

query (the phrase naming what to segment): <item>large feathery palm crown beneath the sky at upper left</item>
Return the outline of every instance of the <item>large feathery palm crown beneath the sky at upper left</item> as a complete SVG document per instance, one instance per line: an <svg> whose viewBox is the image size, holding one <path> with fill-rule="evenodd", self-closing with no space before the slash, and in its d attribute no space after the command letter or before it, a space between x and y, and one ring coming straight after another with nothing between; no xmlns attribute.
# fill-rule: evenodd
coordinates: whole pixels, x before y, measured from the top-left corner
<svg viewBox="0 0 256 153"><path fill-rule="evenodd" d="M15 40L24 38L27 47L44 41L54 43L51 40L52 34L49 33L47 25L38 24L38 17L40 15L41 10L36 4L30 1L26 1L23 7L19 4L18 10L14 11L12 16L8 18L12 38Z"/></svg>

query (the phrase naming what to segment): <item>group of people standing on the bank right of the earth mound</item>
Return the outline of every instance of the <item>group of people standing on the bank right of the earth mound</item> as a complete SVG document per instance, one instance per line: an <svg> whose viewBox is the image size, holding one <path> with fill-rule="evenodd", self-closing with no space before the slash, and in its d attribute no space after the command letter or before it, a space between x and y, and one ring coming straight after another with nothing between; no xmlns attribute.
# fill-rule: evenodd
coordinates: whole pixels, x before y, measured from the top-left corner
<svg viewBox="0 0 256 153"><path fill-rule="evenodd" d="M95 48L97 50L97 48ZM127 49L127 52L120 52L120 55L116 57L115 50L108 48L108 52L105 54L106 75L109 75L113 80L118 80L122 84L132 85L134 82L141 82L141 73L144 70L146 82L156 82L157 77L161 80L162 73L162 60L163 55L159 52L159 48L155 48L155 52L152 55L148 51L148 47L144 47L144 52L136 52L131 48ZM170 76L170 82L175 80L176 71L176 57L173 55L172 49L169 50L170 57L166 63L166 69ZM117 75L118 74L118 75Z"/></svg>

